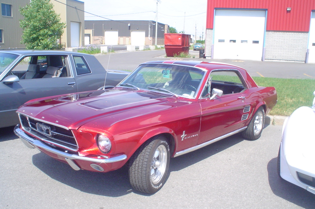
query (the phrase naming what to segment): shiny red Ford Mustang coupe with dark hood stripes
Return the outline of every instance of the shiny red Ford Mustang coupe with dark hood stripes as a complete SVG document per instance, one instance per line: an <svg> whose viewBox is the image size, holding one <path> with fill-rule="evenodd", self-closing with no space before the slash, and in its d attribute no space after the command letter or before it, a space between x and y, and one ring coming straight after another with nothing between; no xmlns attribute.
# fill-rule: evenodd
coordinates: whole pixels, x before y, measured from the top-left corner
<svg viewBox="0 0 315 209"><path fill-rule="evenodd" d="M242 132L258 139L277 103L242 68L203 61L151 61L115 88L31 100L15 134L75 170L129 167L132 187L157 192L170 157Z"/></svg>

